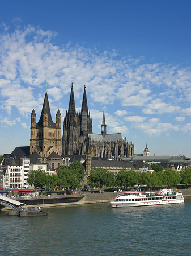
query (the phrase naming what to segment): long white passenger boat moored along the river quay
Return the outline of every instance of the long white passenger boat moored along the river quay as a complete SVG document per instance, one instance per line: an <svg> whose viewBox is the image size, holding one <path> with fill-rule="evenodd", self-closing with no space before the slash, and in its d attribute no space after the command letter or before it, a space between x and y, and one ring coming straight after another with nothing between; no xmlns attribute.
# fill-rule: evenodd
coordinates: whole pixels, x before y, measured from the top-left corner
<svg viewBox="0 0 191 256"><path fill-rule="evenodd" d="M135 207L148 205L163 205L184 203L184 197L181 191L172 191L164 188L158 193L141 191L124 191L118 193L118 196L109 204L111 207Z"/></svg>

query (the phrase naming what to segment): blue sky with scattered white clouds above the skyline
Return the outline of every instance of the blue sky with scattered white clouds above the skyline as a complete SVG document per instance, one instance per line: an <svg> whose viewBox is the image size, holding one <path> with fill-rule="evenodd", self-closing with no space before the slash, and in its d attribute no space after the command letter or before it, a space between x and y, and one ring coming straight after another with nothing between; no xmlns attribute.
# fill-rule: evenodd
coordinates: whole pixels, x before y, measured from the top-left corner
<svg viewBox="0 0 191 256"><path fill-rule="evenodd" d="M29 146L46 83L52 119L86 85L93 132L135 154L191 157L191 1L0 1L0 154Z"/></svg>

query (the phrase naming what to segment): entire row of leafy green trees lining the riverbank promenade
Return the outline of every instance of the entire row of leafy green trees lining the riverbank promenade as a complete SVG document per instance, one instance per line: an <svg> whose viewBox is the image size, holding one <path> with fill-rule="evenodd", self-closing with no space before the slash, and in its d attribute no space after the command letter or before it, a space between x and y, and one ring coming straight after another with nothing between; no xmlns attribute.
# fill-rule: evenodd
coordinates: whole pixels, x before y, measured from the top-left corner
<svg viewBox="0 0 191 256"><path fill-rule="evenodd" d="M177 184L191 184L191 168L185 168L181 172L171 168L162 171L158 168L154 172L136 172L134 170L120 170L115 176L113 172L96 168L90 171L88 185L91 188L120 187L132 188L139 184L144 187L163 187ZM28 183L35 188L68 188L80 187L84 178L84 167L79 162L73 162L70 166L57 168L57 174L49 175L42 170L30 171Z"/></svg>

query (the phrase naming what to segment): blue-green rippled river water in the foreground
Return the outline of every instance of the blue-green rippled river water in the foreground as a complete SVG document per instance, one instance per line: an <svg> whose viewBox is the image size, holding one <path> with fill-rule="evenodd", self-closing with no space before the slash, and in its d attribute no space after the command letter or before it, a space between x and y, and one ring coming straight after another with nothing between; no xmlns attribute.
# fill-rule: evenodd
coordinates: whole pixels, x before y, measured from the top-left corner
<svg viewBox="0 0 191 256"><path fill-rule="evenodd" d="M48 216L0 213L0 255L191 255L191 199L184 204L48 208Z"/></svg>

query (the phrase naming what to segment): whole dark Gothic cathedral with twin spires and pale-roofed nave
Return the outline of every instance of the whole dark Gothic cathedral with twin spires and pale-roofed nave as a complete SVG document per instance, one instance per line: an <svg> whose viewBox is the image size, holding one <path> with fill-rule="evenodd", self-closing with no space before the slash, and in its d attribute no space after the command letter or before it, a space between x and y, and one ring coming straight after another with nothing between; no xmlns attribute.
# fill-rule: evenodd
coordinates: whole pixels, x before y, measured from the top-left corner
<svg viewBox="0 0 191 256"><path fill-rule="evenodd" d="M92 118L88 112L86 86L84 86L81 112L75 109L74 90L71 84L69 109L63 122L62 155L85 155L91 152L93 157L107 157L112 160L134 155L133 143L128 143L121 133L107 134L105 113L101 133L92 133Z"/></svg>

